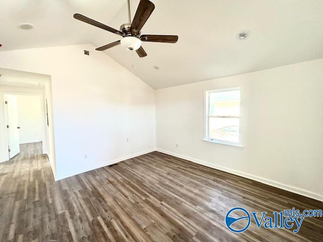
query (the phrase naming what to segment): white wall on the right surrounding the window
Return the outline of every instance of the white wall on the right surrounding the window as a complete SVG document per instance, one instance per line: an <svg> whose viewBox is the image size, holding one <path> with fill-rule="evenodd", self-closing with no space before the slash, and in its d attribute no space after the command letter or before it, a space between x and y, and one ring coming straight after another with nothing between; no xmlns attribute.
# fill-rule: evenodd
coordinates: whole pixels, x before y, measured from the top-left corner
<svg viewBox="0 0 323 242"><path fill-rule="evenodd" d="M204 91L231 87L241 87L242 150L201 141ZM319 200L322 125L323 59L156 92L159 150Z"/></svg>

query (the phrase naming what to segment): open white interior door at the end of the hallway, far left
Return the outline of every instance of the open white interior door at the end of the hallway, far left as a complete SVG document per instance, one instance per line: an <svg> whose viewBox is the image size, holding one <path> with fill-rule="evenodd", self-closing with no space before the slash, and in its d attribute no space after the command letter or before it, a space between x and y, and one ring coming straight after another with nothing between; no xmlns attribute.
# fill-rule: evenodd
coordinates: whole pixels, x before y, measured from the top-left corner
<svg viewBox="0 0 323 242"><path fill-rule="evenodd" d="M19 132L18 132L18 110L17 98L13 95L6 94L7 109L7 130L9 144L9 158L13 158L20 152Z"/></svg>

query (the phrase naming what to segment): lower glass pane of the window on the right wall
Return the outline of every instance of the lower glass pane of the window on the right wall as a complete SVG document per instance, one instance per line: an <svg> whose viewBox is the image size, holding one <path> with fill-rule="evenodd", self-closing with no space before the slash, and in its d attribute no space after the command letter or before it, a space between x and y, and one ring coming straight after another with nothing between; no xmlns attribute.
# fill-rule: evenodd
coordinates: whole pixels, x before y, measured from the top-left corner
<svg viewBox="0 0 323 242"><path fill-rule="evenodd" d="M239 143L239 118L210 117L209 139Z"/></svg>

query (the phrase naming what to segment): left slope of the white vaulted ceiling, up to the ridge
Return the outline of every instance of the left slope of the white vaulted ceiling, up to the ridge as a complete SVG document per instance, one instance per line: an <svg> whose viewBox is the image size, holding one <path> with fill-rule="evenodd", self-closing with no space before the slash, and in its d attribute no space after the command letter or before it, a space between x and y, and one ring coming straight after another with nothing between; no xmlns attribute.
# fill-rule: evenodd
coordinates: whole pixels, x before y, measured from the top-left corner
<svg viewBox="0 0 323 242"><path fill-rule="evenodd" d="M73 15L80 13L106 23L124 4L120 0L1 0L1 50L91 43L100 29L84 26ZM35 28L17 28L26 22Z"/></svg>

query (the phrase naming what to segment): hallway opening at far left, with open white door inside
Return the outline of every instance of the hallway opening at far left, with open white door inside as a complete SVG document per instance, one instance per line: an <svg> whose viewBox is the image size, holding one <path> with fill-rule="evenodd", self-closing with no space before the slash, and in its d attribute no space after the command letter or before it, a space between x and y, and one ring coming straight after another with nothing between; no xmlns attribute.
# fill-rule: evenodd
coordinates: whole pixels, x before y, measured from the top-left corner
<svg viewBox="0 0 323 242"><path fill-rule="evenodd" d="M56 177L51 77L0 68L0 162L31 155L46 157Z"/></svg>

